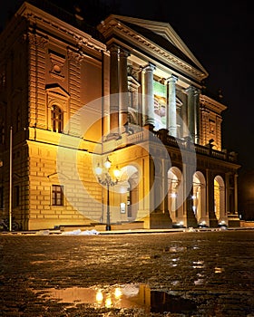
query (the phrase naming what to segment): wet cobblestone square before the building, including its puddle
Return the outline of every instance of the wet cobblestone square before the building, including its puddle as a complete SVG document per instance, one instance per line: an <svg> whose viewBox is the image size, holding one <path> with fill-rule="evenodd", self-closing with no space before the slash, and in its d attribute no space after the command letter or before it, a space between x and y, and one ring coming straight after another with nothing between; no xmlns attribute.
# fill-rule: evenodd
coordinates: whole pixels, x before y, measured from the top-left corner
<svg viewBox="0 0 254 317"><path fill-rule="evenodd" d="M5 234L0 249L3 317L254 316L254 230Z"/></svg>

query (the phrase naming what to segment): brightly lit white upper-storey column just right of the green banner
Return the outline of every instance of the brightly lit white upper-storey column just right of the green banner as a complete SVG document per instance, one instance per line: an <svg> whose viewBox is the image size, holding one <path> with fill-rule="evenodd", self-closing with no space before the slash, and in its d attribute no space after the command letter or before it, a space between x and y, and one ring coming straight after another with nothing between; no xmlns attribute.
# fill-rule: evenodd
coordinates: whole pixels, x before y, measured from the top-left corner
<svg viewBox="0 0 254 317"><path fill-rule="evenodd" d="M175 83L178 78L174 75L167 80L168 82L168 104L167 104L167 129L169 135L177 137L177 118L176 118L176 89Z"/></svg>

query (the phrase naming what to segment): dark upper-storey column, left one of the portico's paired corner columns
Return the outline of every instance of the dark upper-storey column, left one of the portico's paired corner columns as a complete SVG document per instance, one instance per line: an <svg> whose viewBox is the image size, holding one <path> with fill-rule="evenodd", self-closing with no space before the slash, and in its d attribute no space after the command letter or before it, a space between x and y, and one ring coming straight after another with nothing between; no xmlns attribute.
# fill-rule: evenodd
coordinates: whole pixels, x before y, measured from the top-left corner
<svg viewBox="0 0 254 317"><path fill-rule="evenodd" d="M119 134L119 47L112 45L110 53L110 134Z"/></svg>

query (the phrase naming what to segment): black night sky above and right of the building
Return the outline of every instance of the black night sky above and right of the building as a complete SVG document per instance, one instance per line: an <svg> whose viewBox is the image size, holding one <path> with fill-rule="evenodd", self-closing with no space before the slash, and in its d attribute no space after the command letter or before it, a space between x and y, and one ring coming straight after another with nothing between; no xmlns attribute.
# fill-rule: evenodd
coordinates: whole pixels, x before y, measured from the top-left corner
<svg viewBox="0 0 254 317"><path fill-rule="evenodd" d="M1 5L0 21L19 0ZM83 1L84 0L79 0ZM94 3L99 0L93 0ZM207 86L222 90L223 148L239 153L241 169L254 169L254 13L249 0L101 0L113 14L130 15L171 24L181 40L209 72ZM54 2L54 0L53 0ZM56 2L56 1L55 1ZM74 3L72 1L72 3ZM112 10L112 11L113 11Z"/></svg>

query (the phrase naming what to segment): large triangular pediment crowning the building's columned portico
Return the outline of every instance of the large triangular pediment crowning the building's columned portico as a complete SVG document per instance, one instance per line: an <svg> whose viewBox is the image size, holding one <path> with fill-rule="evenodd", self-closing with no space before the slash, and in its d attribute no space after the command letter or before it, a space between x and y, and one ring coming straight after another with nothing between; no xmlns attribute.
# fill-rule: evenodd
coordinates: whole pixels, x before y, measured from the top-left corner
<svg viewBox="0 0 254 317"><path fill-rule="evenodd" d="M119 38L117 35L121 34L124 41L128 39L132 43L138 42L141 47L146 46L147 51L151 50L153 54L160 55L161 59L177 64L185 73L190 72L190 75L192 73L200 80L208 76L208 72L176 34L171 24L112 14L98 29L108 43L112 37Z"/></svg>

